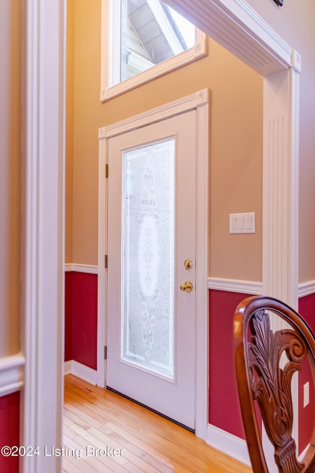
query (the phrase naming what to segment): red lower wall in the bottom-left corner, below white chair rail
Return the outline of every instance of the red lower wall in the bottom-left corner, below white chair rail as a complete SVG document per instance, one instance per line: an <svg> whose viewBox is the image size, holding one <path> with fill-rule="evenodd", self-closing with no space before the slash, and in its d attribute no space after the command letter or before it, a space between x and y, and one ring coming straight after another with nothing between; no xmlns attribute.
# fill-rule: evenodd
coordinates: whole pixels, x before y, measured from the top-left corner
<svg viewBox="0 0 315 473"><path fill-rule="evenodd" d="M20 445L20 393L0 398L0 448ZM0 472L18 473L19 457L4 457L0 454Z"/></svg>

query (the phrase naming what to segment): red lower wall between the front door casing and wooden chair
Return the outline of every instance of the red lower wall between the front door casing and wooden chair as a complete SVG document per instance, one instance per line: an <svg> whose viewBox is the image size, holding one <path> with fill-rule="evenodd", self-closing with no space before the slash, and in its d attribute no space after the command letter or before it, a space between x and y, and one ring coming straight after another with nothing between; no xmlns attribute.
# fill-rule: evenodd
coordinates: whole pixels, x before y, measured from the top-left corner
<svg viewBox="0 0 315 473"><path fill-rule="evenodd" d="M233 354L233 315L248 294L209 291L209 423L245 439Z"/></svg>

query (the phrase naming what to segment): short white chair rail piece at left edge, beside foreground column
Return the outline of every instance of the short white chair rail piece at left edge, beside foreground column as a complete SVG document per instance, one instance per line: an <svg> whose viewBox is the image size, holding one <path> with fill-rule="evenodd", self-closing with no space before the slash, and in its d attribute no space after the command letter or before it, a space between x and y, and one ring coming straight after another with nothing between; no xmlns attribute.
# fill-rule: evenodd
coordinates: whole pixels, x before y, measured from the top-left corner
<svg viewBox="0 0 315 473"><path fill-rule="evenodd" d="M15 393L23 387L25 358L18 353L0 358L0 397Z"/></svg>

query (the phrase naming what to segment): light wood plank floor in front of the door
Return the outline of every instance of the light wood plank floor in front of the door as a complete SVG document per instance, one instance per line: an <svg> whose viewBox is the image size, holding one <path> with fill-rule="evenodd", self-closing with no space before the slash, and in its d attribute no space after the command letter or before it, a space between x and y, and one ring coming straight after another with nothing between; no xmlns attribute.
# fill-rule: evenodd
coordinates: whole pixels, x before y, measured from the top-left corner
<svg viewBox="0 0 315 473"><path fill-rule="evenodd" d="M178 425L71 374L64 378L63 435L64 473L252 472Z"/></svg>

